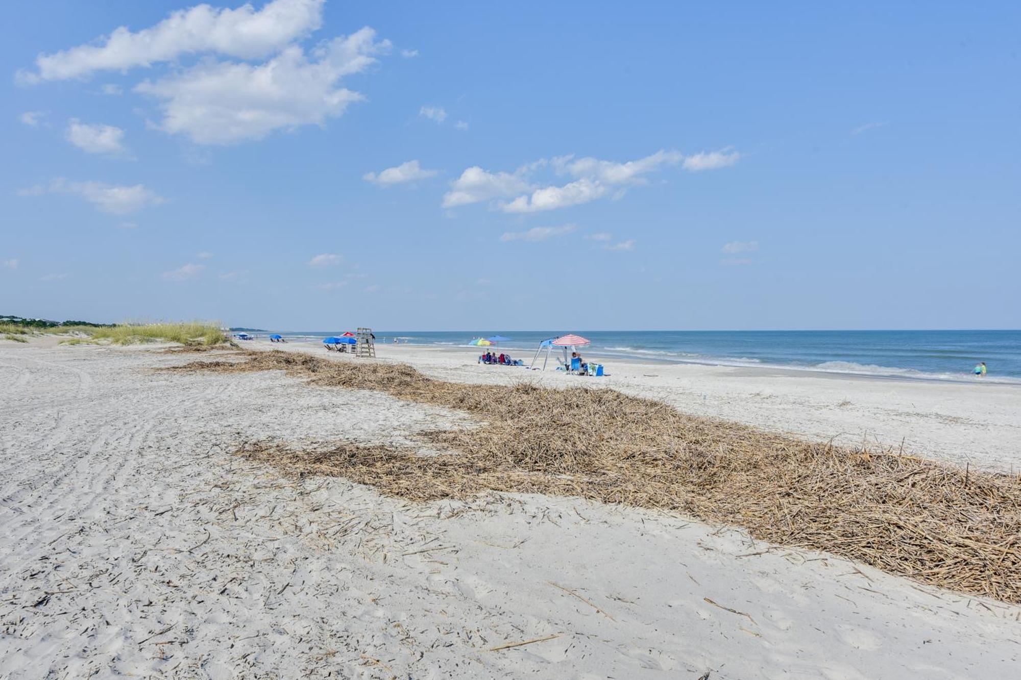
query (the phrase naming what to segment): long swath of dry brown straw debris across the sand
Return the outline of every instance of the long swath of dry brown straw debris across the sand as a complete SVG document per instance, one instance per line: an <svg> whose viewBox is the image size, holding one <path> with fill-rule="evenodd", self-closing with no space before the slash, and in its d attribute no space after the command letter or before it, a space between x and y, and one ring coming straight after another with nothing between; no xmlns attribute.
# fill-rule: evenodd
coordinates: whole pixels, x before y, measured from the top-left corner
<svg viewBox="0 0 1021 680"><path fill-rule="evenodd" d="M380 390L474 415L425 433L454 452L273 442L240 452L295 474L341 476L412 500L486 491L582 496L746 528L892 574L1021 602L1021 478L892 451L800 441L696 418L611 389L467 385L404 365L249 352L173 370L284 370L314 385Z"/></svg>

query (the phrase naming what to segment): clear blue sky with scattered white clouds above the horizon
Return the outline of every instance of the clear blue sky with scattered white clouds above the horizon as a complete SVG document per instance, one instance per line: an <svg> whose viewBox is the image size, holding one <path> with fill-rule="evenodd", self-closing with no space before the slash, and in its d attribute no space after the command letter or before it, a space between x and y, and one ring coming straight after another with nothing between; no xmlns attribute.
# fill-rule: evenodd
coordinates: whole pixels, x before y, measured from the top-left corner
<svg viewBox="0 0 1021 680"><path fill-rule="evenodd" d="M4 14L0 313L1021 327L1017 3Z"/></svg>

